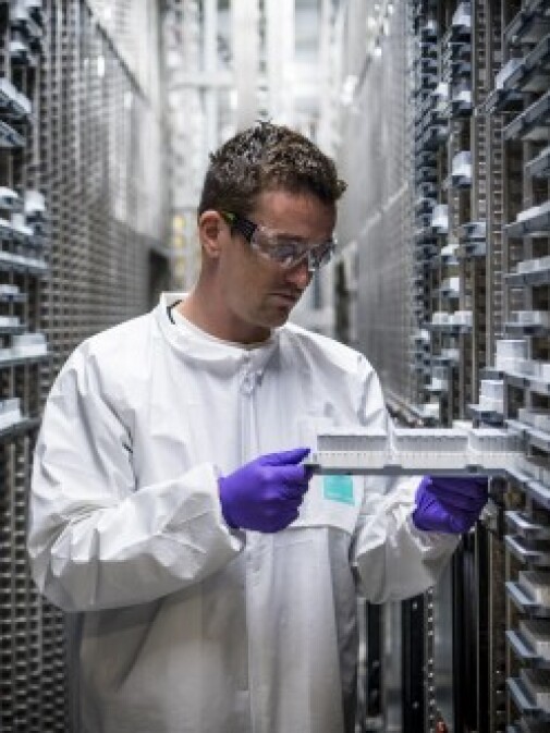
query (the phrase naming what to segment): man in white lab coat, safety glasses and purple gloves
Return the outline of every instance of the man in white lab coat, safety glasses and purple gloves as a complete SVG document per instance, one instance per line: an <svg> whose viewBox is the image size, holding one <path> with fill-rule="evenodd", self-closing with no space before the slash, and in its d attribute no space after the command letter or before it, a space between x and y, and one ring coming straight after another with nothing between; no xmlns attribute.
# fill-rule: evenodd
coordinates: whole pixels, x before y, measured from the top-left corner
<svg viewBox="0 0 550 733"><path fill-rule="evenodd" d="M80 613L82 733L353 731L357 590L424 591L481 511L485 482L334 486L302 463L319 430L390 428L364 356L288 323L344 187L286 127L237 134L193 291L84 342L52 388L28 545Z"/></svg>

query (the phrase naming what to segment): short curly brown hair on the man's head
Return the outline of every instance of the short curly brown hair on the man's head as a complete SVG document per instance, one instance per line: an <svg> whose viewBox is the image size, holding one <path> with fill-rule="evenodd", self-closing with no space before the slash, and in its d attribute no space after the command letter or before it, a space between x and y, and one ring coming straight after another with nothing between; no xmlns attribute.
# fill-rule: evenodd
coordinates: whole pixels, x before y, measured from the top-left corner
<svg viewBox="0 0 550 733"><path fill-rule="evenodd" d="M207 209L249 215L265 191L313 194L335 204L346 188L333 160L284 125L258 122L210 155L198 215Z"/></svg>

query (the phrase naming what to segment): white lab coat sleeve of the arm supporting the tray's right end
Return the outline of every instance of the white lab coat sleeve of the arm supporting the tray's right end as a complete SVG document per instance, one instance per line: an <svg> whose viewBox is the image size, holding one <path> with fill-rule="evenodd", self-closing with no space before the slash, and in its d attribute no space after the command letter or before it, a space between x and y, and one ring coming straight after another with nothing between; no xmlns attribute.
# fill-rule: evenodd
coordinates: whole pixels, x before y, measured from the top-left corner
<svg viewBox="0 0 550 733"><path fill-rule="evenodd" d="M363 381L360 422L390 436L392 422L378 377ZM352 543L359 590L371 603L403 600L432 587L456 549L460 537L417 529L412 521L419 476L365 480Z"/></svg>

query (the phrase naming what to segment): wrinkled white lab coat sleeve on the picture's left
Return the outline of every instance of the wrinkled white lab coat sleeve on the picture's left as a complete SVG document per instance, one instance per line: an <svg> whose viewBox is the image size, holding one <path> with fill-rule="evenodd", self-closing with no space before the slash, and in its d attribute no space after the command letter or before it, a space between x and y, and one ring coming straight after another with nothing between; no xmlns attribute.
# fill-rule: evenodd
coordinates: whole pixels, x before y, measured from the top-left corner
<svg viewBox="0 0 550 733"><path fill-rule="evenodd" d="M75 354L35 450L27 548L40 591L65 611L124 607L224 566L243 540L223 521L216 467L136 490L129 430Z"/></svg>

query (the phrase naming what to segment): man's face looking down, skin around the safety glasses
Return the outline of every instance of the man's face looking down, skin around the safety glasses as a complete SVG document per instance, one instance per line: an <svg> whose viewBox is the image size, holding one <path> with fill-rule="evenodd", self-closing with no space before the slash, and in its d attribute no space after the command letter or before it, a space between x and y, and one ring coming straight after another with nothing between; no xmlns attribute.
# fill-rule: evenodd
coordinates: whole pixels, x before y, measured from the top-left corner
<svg viewBox="0 0 550 733"><path fill-rule="evenodd" d="M265 192L249 219L272 232L316 245L332 236L333 206L311 195L285 191ZM218 285L232 323L230 340L261 341L289 318L311 274L307 261L284 269L255 251L237 232L223 232Z"/></svg>

